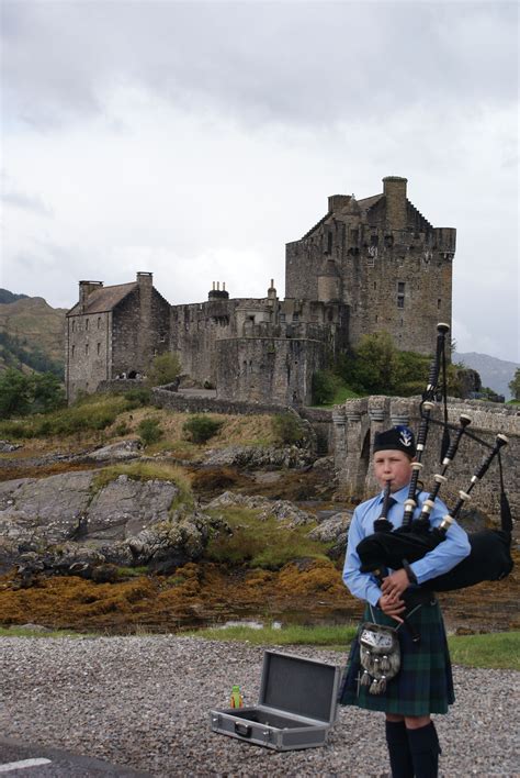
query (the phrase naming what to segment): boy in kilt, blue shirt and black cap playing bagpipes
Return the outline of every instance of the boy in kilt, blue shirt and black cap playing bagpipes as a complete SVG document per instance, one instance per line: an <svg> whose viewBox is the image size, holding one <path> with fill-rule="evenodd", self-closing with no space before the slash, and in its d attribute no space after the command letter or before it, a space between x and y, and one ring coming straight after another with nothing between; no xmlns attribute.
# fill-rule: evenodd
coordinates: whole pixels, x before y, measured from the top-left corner
<svg viewBox="0 0 520 778"><path fill-rule="evenodd" d="M382 511L391 529L403 522L415 455L408 427L375 435L374 475L384 492L355 509L343 567L346 586L366 608L350 651L340 703L385 713L393 778L438 775L441 749L430 714L446 713L454 692L442 614L434 592L425 584L448 573L471 549L466 533L453 522L445 540L406 569L380 576L361 573L357 547L374 532ZM426 492L416 496L417 513L427 497ZM431 526L438 526L446 513L437 499Z"/></svg>

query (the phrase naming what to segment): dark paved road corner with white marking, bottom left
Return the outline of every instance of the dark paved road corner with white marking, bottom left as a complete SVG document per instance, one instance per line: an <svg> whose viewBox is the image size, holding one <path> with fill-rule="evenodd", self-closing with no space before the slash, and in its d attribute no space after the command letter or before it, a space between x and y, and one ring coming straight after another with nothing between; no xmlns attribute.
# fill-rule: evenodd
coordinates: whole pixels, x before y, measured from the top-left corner
<svg viewBox="0 0 520 778"><path fill-rule="evenodd" d="M117 767L100 759L0 738L0 778L4 775L7 778L150 778L149 773Z"/></svg>

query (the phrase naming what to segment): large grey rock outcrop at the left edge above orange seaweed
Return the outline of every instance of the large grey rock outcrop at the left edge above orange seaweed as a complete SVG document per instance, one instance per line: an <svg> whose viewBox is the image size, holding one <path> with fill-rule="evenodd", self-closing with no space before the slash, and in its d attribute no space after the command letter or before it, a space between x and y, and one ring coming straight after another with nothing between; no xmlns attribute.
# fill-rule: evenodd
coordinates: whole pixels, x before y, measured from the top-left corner
<svg viewBox="0 0 520 778"><path fill-rule="evenodd" d="M176 566L197 558L212 524L222 525L196 510L172 512L173 481L120 475L97 486L97 478L80 471L0 484L0 567L92 577L105 564Z"/></svg>

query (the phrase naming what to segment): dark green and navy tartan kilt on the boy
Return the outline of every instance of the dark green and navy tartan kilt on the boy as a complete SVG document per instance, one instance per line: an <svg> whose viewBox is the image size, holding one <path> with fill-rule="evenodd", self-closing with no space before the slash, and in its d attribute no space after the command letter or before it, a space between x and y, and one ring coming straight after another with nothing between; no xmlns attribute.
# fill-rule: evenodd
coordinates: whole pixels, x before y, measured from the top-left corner
<svg viewBox="0 0 520 778"><path fill-rule="evenodd" d="M378 608L372 608L377 624L396 626L394 619L387 616ZM414 643L409 631L403 624L397 635L400 644L400 670L387 681L383 694L370 694L364 686L359 685L362 674L360 667L359 631L352 642L347 668L339 691L339 703L358 705L372 711L384 711L405 716L428 715L428 713L446 713L448 705L453 704L453 678L450 654L439 603L423 604L408 621L420 634L420 642ZM364 621L373 621L369 605L365 608ZM361 624L360 624L361 630Z"/></svg>

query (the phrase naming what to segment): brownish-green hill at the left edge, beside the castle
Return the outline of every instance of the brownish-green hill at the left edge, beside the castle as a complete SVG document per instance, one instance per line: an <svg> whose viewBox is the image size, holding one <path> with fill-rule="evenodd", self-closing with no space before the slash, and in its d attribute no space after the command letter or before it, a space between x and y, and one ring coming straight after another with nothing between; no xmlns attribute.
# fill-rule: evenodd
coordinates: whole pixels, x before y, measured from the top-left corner
<svg viewBox="0 0 520 778"><path fill-rule="evenodd" d="M42 297L0 290L0 370L54 373L63 377L65 308L52 308Z"/></svg>

